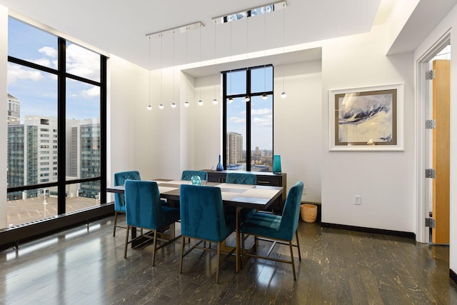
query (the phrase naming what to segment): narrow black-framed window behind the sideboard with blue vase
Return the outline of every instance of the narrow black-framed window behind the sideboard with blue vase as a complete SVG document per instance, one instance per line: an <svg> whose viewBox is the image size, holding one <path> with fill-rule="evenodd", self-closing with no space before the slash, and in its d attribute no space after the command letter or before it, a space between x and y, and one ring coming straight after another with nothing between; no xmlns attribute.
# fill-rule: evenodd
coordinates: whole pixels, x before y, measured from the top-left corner
<svg viewBox="0 0 457 305"><path fill-rule="evenodd" d="M224 168L271 171L273 164L273 66L226 71Z"/></svg>

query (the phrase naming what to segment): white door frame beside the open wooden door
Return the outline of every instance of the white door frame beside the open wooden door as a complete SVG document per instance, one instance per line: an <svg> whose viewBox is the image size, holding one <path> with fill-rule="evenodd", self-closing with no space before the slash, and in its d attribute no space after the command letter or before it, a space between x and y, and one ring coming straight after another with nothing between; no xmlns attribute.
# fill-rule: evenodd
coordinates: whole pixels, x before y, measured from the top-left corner
<svg viewBox="0 0 457 305"><path fill-rule="evenodd" d="M429 216L429 190L425 178L426 164L429 163L429 148L426 138L425 121L429 119L428 107L431 105L430 82L426 81L426 71L430 69L429 61L451 42L451 31L441 36L416 62L416 183L417 183L417 221L416 241L429 242L429 229L425 226L425 219Z"/></svg>

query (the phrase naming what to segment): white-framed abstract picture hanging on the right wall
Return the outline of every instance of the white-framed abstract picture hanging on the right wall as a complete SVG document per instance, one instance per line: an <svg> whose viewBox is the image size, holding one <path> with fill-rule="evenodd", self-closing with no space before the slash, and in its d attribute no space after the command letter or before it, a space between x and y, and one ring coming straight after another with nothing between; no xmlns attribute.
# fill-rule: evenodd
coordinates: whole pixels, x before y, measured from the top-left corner
<svg viewBox="0 0 457 305"><path fill-rule="evenodd" d="M403 151L403 84L329 91L330 151Z"/></svg>

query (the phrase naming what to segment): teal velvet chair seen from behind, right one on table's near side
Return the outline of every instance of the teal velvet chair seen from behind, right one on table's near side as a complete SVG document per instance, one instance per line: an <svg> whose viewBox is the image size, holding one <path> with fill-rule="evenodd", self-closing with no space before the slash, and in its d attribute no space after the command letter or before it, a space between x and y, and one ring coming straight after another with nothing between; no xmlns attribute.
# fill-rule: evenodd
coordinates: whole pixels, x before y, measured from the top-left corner
<svg viewBox="0 0 457 305"><path fill-rule="evenodd" d="M221 242L235 231L235 219L226 217L224 214L221 189L219 187L182 184L180 192L182 245L179 274L182 274L183 271L184 256L193 249L216 251L216 283L219 283ZM198 239L199 241L184 253L186 237ZM202 241L205 241L204 246L199 246ZM206 247L206 241L210 241L209 247ZM211 248L211 242L217 243L217 250ZM229 259L233 251L224 256L222 263Z"/></svg>

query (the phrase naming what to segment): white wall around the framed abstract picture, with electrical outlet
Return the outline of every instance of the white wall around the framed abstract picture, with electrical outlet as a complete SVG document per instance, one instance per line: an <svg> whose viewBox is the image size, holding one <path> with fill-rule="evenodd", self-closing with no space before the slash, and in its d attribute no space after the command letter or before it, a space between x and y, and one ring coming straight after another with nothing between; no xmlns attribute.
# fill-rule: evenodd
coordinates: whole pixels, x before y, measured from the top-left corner
<svg viewBox="0 0 457 305"><path fill-rule="evenodd" d="M322 221L414 232L416 179L413 55L386 57L385 29L332 39L322 51ZM404 151L328 151L328 91L404 84ZM362 204L354 204L354 196Z"/></svg>

